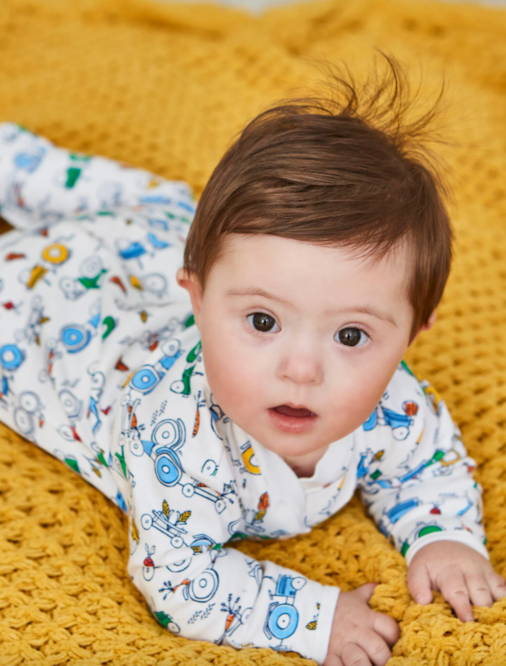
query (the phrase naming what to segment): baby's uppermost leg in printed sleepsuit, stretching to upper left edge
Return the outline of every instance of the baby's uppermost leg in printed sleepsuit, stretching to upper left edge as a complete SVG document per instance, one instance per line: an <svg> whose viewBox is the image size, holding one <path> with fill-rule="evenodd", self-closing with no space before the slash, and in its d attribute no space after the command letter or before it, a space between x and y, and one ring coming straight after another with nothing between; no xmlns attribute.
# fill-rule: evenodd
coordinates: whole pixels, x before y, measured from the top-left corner
<svg viewBox="0 0 506 666"><path fill-rule="evenodd" d="M152 210L163 226L171 218L190 222L195 202L184 182L59 148L15 123L0 123L0 214L13 226L36 229L119 209Z"/></svg>

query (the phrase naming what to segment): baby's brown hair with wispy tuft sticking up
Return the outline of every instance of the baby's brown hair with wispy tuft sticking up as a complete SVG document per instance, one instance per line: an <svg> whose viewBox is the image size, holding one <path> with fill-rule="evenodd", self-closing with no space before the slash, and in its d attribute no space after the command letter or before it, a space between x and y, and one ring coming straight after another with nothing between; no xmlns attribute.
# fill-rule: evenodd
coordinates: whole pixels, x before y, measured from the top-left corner
<svg viewBox="0 0 506 666"><path fill-rule="evenodd" d="M383 55L383 54L382 54ZM206 184L184 251L202 289L225 234L274 234L343 246L379 260L407 240L411 339L448 278L452 232L443 182L419 139L433 107L410 123L407 77L392 57L359 89L332 70L332 97L284 101L240 133Z"/></svg>

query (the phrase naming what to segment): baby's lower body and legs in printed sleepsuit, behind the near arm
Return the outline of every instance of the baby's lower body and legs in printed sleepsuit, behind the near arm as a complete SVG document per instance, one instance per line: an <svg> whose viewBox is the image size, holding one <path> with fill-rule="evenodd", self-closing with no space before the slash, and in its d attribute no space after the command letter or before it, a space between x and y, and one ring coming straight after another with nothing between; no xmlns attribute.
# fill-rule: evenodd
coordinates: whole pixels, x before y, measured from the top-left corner
<svg viewBox="0 0 506 666"><path fill-rule="evenodd" d="M0 420L122 505L109 426L125 376L190 315L190 190L0 124L0 204L16 227L0 236Z"/></svg>

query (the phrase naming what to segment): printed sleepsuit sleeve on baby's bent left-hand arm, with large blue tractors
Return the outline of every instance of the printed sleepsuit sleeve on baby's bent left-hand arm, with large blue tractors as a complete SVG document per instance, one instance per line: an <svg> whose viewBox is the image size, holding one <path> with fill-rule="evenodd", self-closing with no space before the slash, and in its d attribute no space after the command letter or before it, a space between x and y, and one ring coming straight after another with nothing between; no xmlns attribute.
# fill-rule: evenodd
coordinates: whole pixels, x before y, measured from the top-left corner
<svg viewBox="0 0 506 666"><path fill-rule="evenodd" d="M198 364L192 381L196 375ZM196 402L192 394L171 395L170 382L158 386L160 394L147 396L129 388L112 440L134 585L158 622L178 635L293 650L322 663L339 589L225 545L245 536L245 524L224 442L202 395Z"/></svg>

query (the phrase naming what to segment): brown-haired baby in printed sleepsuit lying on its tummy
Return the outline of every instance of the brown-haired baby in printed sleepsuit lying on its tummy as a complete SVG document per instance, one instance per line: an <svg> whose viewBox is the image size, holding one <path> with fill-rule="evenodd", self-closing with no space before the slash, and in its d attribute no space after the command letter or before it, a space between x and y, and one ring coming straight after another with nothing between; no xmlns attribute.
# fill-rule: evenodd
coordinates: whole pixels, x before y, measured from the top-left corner
<svg viewBox="0 0 506 666"><path fill-rule="evenodd" d="M227 544L308 533L358 488L415 601L472 621L506 595L475 462L402 361L449 273L441 186L346 90L256 117L196 213L182 182L0 125L0 419L128 513L169 631L382 666L375 583Z"/></svg>

